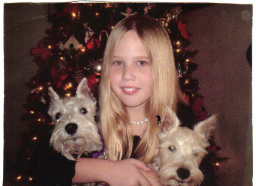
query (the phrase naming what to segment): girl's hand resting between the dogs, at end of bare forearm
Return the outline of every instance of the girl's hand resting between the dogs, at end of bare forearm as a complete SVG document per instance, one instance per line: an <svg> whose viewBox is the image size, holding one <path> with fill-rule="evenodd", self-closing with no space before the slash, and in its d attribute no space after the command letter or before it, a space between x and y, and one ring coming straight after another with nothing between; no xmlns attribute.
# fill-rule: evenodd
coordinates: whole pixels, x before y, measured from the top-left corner
<svg viewBox="0 0 256 186"><path fill-rule="evenodd" d="M110 164L108 173L105 174L106 183L110 186L141 185L152 186L148 179L151 179L151 168L137 159L123 159ZM142 173L143 172L143 173ZM145 174L146 176L144 176ZM154 181L152 183L155 183Z"/></svg>

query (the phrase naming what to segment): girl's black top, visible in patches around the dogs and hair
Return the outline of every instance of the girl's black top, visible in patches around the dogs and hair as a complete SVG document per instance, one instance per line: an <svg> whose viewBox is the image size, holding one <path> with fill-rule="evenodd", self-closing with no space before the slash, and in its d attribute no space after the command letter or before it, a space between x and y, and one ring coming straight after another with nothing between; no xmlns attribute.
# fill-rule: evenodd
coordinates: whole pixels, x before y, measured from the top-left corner
<svg viewBox="0 0 256 186"><path fill-rule="evenodd" d="M191 129L197 122L192 109L187 105L178 104L177 117L183 123L182 126L187 126ZM53 147L49 147L50 138L51 136L36 148L28 163L28 174L33 177L35 185L72 185L76 161L68 160L53 150ZM138 145L139 141L140 138L135 136L134 147ZM202 160L199 168L204 174L204 181L201 185L216 186L213 167L208 156Z"/></svg>

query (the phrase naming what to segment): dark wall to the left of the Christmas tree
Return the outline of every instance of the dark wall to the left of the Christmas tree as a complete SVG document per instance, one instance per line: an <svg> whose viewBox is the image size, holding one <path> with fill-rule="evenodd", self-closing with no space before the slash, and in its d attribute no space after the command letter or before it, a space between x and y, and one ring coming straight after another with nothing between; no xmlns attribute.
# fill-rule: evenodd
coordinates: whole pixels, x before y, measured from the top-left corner
<svg viewBox="0 0 256 186"><path fill-rule="evenodd" d="M51 28L51 24L47 22L47 4L8 3L4 11L4 158L13 163L21 141L20 134L28 127L20 120L26 112L22 105L30 93L25 83L38 70L34 57L30 56L30 48L36 48L38 42L47 36L44 32Z"/></svg>

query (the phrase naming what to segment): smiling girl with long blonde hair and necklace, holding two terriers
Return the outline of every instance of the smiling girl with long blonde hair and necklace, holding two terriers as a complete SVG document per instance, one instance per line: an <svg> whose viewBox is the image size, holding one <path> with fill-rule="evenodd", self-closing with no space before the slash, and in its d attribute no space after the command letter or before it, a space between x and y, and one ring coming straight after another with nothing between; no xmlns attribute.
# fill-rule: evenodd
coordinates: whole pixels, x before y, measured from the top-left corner
<svg viewBox="0 0 256 186"><path fill-rule="evenodd" d="M109 185L130 185L131 181L131 185L150 185L151 181L158 185L156 172L144 164L151 163L158 153L156 116L164 118L166 105L176 110L178 102L185 103L168 33L148 16L130 16L114 27L103 61L100 129L110 161L94 159L94 164L90 164L90 159L79 159L73 183L105 181ZM86 175L88 162L96 167L93 170L97 174L101 167L104 175L98 180L92 178L97 177L92 170Z"/></svg>

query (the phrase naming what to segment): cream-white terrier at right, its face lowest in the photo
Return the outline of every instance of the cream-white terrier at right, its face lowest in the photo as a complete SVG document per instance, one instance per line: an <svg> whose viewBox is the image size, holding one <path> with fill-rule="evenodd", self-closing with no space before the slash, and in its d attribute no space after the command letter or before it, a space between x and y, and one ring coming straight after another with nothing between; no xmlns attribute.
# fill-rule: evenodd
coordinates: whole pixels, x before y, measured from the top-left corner
<svg viewBox="0 0 256 186"><path fill-rule="evenodd" d="M208 138L216 127L217 117L213 115L199 122L193 130L180 127L180 120L171 110L167 110L166 118L159 133L159 154L155 158L161 185L192 186L200 185L204 179L199 164L208 154Z"/></svg>

